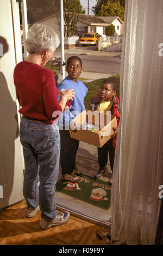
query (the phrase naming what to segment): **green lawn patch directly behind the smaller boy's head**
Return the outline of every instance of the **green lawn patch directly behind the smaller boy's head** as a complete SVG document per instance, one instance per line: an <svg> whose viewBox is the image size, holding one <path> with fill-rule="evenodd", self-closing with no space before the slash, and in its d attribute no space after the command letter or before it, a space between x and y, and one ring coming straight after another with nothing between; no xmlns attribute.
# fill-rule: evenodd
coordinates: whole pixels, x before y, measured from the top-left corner
<svg viewBox="0 0 163 256"><path fill-rule="evenodd" d="M114 78L117 82L118 85L120 86L120 75L112 75L110 78ZM101 86L105 78L102 79L97 79L93 82L89 82L85 86L88 88L88 92L86 94L86 97L84 99L85 103L85 109L90 109L90 99L95 97L99 92L101 91ZM117 96L120 98L120 91L117 91Z"/></svg>

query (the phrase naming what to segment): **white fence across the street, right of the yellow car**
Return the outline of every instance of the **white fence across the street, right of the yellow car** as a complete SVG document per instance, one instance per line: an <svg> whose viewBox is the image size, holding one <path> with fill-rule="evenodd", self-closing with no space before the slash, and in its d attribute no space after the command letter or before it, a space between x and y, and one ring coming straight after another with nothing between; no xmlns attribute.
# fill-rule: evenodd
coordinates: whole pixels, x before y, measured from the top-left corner
<svg viewBox="0 0 163 256"><path fill-rule="evenodd" d="M100 37L98 39L98 51L107 51L114 44L122 42L122 37Z"/></svg>

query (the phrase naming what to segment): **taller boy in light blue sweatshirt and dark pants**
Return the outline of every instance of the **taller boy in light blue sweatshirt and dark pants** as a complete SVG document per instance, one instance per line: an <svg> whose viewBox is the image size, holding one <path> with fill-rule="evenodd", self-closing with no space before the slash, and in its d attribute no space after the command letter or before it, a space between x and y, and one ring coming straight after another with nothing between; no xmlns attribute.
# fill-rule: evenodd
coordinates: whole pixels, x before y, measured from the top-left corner
<svg viewBox="0 0 163 256"><path fill-rule="evenodd" d="M82 172L76 168L76 154L79 147L79 140L72 139L68 126L72 119L85 110L84 98L87 93L87 87L78 78L82 72L82 59L78 56L71 56L67 59L68 76L57 85L59 91L62 89L73 89L75 97L71 102L71 107L63 111L59 118L61 151L60 164L62 178L71 182L79 182Z"/></svg>

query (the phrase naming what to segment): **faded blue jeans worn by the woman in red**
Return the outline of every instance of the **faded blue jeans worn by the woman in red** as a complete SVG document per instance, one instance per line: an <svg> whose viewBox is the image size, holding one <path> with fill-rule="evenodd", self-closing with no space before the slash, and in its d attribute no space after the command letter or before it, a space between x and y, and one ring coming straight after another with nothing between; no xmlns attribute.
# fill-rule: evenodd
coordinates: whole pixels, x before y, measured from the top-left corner
<svg viewBox="0 0 163 256"><path fill-rule="evenodd" d="M51 221L57 215L55 183L58 180L60 156L58 123L38 123L23 116L20 139L25 162L23 194L27 207L35 209L40 205L41 217Z"/></svg>

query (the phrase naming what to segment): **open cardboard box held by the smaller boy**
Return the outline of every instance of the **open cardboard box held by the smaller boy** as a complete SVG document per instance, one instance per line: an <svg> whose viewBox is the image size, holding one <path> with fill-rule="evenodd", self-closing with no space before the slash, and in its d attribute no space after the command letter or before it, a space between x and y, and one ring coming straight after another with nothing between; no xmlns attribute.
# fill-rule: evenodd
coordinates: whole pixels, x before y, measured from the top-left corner
<svg viewBox="0 0 163 256"><path fill-rule="evenodd" d="M87 124L89 124L88 127ZM92 128L92 124L94 128ZM117 127L115 116L92 110L84 110L73 119L69 132L73 139L102 147L111 138L110 135L113 133L112 127Z"/></svg>

